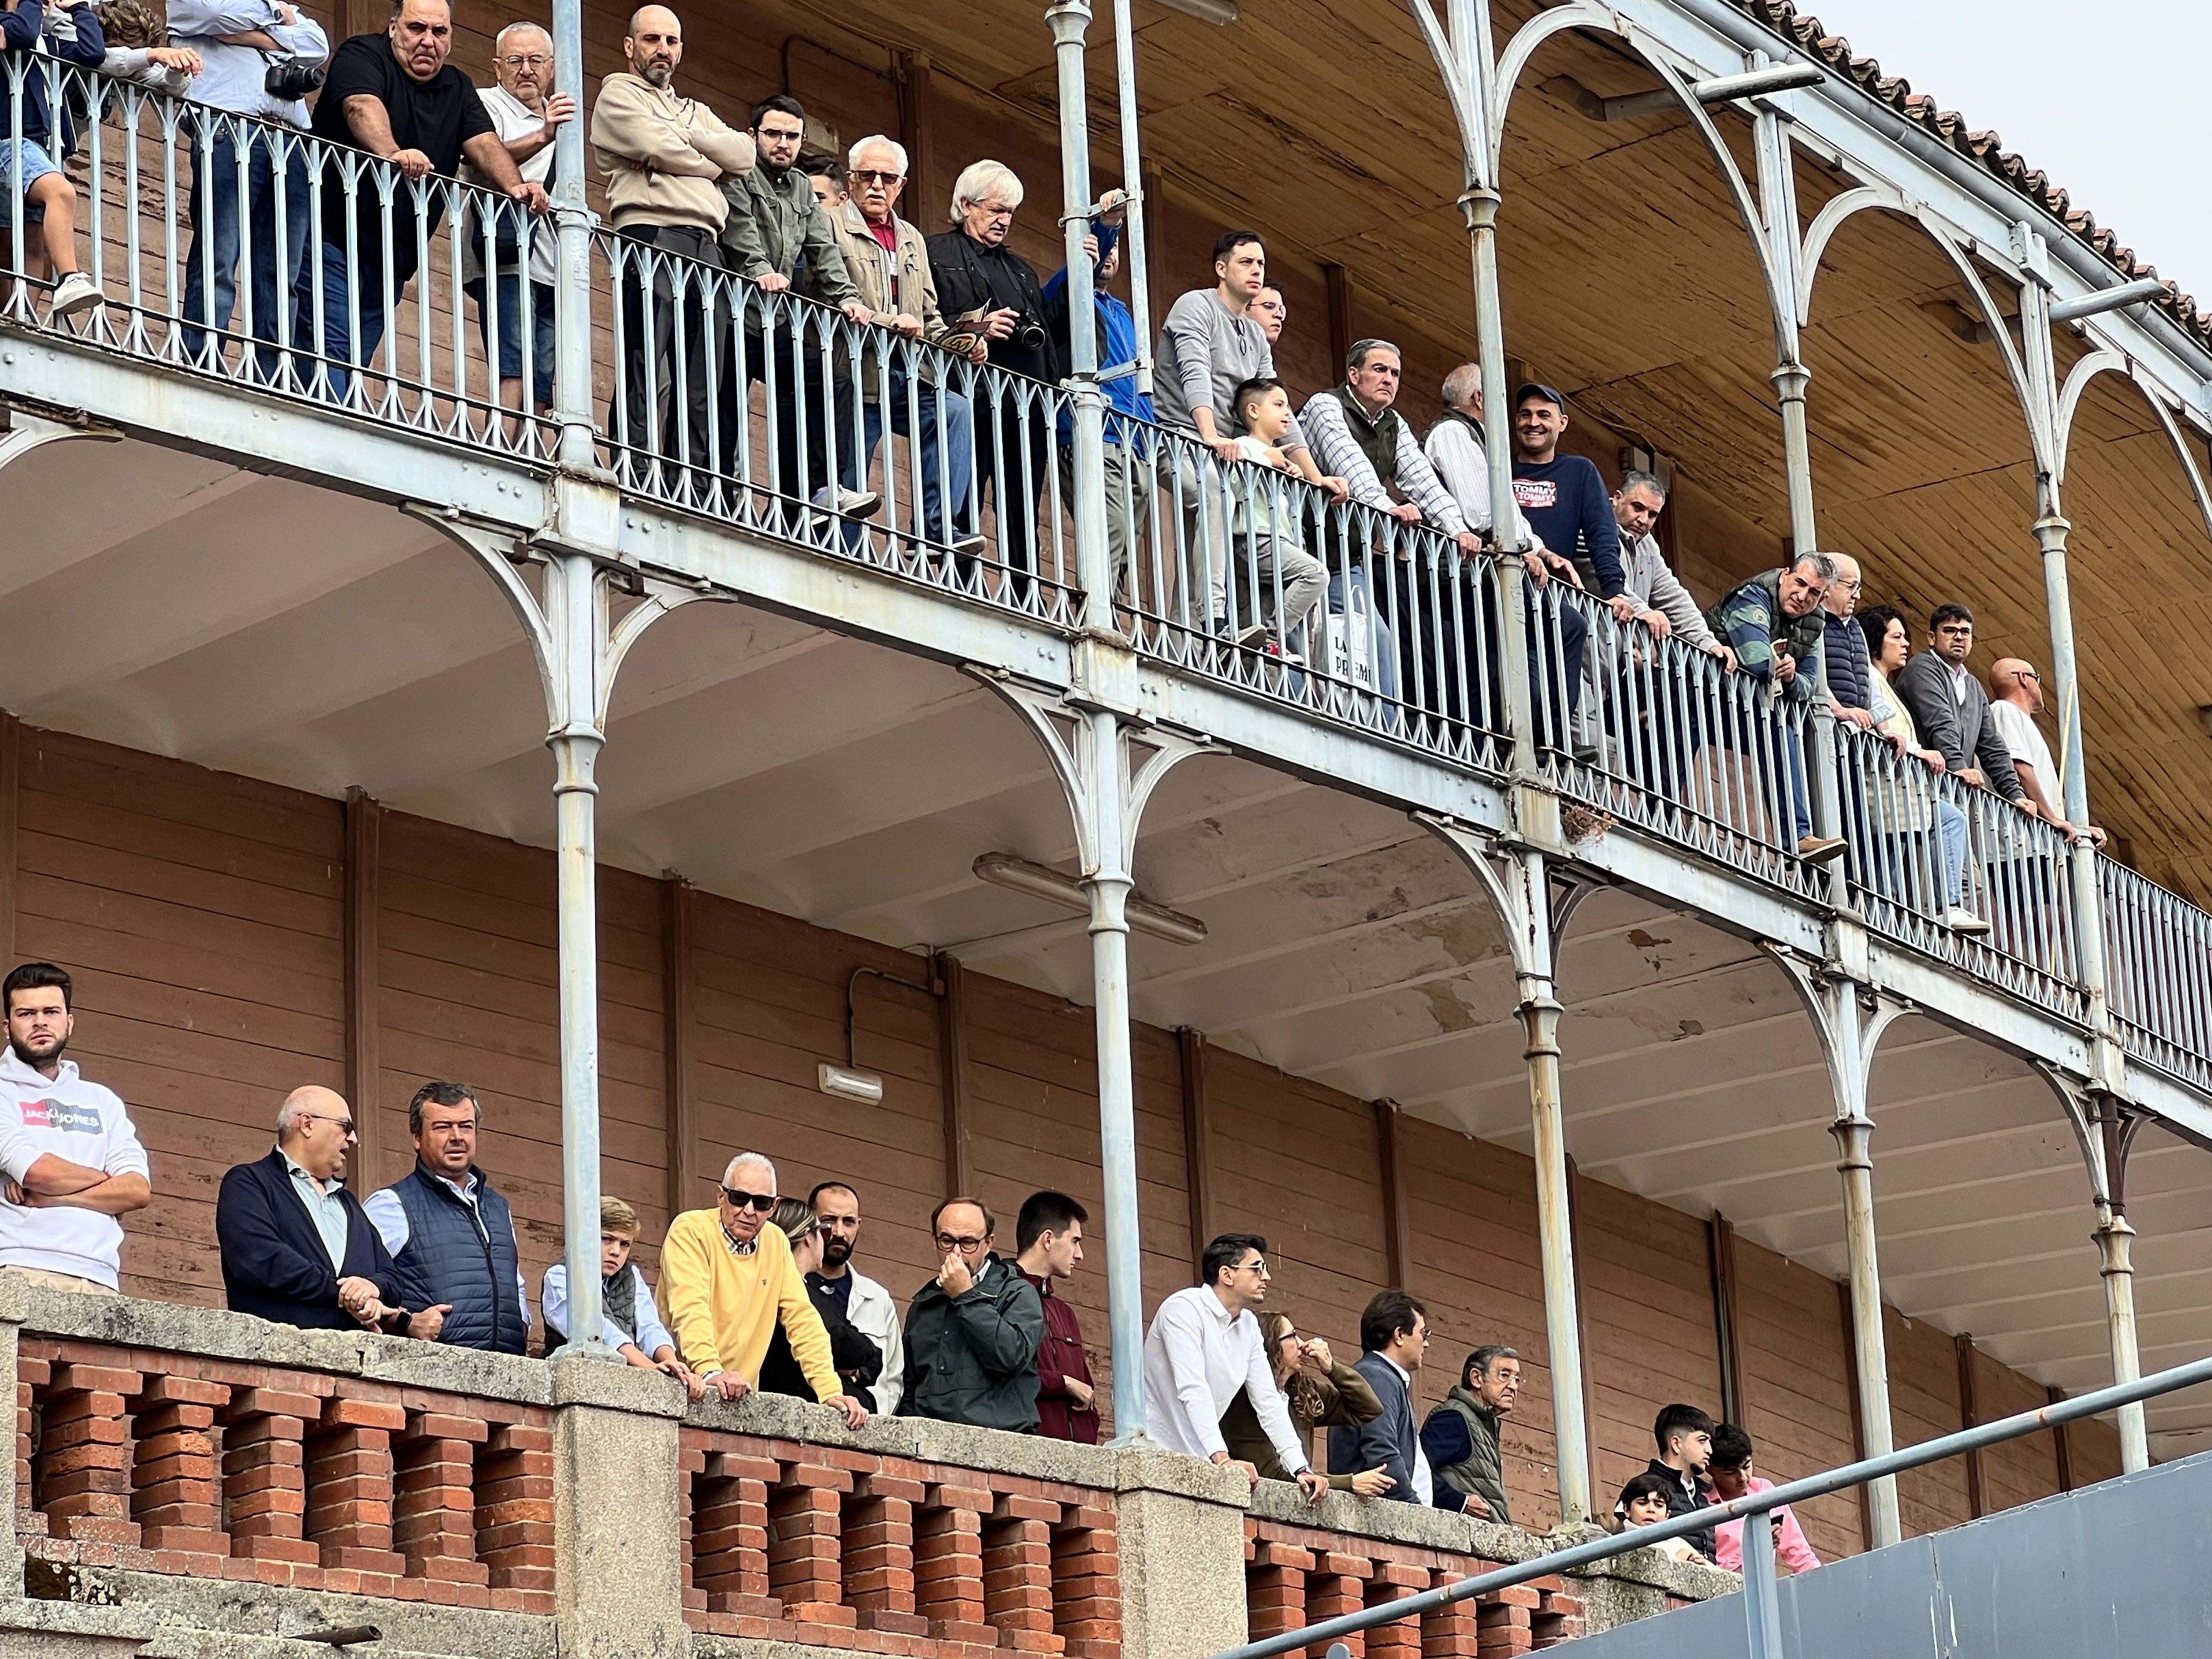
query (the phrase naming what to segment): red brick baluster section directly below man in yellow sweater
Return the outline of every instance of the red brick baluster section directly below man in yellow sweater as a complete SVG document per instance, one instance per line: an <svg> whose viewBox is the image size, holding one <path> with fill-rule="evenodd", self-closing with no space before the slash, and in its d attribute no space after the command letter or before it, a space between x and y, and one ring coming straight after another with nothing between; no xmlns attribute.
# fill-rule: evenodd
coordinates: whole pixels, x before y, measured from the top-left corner
<svg viewBox="0 0 2212 1659"><path fill-rule="evenodd" d="M684 1431L695 1630L885 1655L1117 1659L1113 1493Z"/></svg>

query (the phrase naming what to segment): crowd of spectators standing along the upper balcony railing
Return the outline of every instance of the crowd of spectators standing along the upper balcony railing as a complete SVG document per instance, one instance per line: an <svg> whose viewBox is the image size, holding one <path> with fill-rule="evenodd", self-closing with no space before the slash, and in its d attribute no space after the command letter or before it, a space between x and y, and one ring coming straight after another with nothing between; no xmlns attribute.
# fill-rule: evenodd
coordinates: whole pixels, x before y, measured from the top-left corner
<svg viewBox="0 0 2212 1659"><path fill-rule="evenodd" d="M555 246L546 181L555 135L582 111L562 91L580 75L555 62L544 27L502 29L495 84L473 86L449 62L449 0L396 0L385 31L336 49L288 0L170 0L166 15L148 0L18 0L0 22L9 58L40 49L188 100L192 117L179 131L190 135L192 170L181 294L190 361L221 356L243 294L257 372L279 372L276 347L288 336L319 354L345 396L349 365L374 356L387 305L418 276L427 241L398 215L442 217L436 181L458 179L482 192L465 217L460 283L473 296L500 403L551 405ZM1121 192L1108 192L1091 221L1093 316L1077 323L1068 272L1040 281L1009 248L1024 186L1004 164L962 168L947 228L925 234L900 217L909 157L896 139L863 137L841 161L807 148L805 108L787 93L754 104L737 128L679 91L684 24L672 9L633 11L622 58L599 84L588 139L608 221L628 250L615 261L624 369L608 427L648 467L672 462L690 478L741 473L739 449L752 429L741 405L763 385L774 491L810 504L810 529L843 524L836 533L856 538L885 500L869 487L876 451L885 434L905 436L918 484L914 540L971 580L987 551L980 526L989 498L1004 591L1022 597L1040 568L1046 484L1057 476L1073 493L1075 473L1066 409L1057 425L1035 418L1046 405L1018 387L1062 383L1075 356L1073 330L1086 327L1106 400L1115 582L1137 591L1139 551L1166 493L1179 520L1181 568L1155 586L1181 584L1183 611L1197 613L1194 626L1219 648L1285 666L1327 653L1334 672L1385 697L1418 681L1436 688L1425 695L1442 712L1471 712L1460 699L1475 692L1449 686L1449 668L1464 633L1480 633L1495 659L1500 617L1464 595L1431 593L1425 602L1429 577L1402 544L1378 566L1354 544L1349 520L1312 511L1312 502L1358 502L1380 520L1427 526L1464 555L1502 540L1526 544L1524 626L1531 641L1551 637L1551 653L1531 653L1546 703L1542 741L1584 763L1601 763L1608 745L1617 757L1641 757L1648 783L1679 799L1692 745L1736 754L1765 745L1747 706L1772 699L1803 710L1818 699L1836 719L1887 741L1900 761L1949 772L2066 836L2101 843L2101 830L2064 816L2062 779L2033 721L2042 708L2037 670L2004 659L1984 690L1966 670L1973 617L1964 606L1938 606L1913 655L1913 628L1896 611L1860 611L1863 573L1851 557L1805 553L1701 611L1655 538L1668 484L1630 471L1608 493L1586 456L1562 449L1571 420L1557 389L1528 383L1509 400L1513 500L1504 511L1513 522L1502 529L1478 365L1444 376L1440 418L1425 434L1398 407L1402 354L1380 338L1352 345L1340 385L1296 403L1276 376L1287 307L1267 283L1259 232L1225 232L1212 250L1212 285L1168 305L1148 396L1133 372L1137 323L1110 292L1128 206ZM51 310L73 316L102 303L77 268L75 188L62 170L80 139L84 97L49 91L46 73L33 69L20 104L0 100L9 111L0 228L18 210L38 223L31 257L53 283ZM299 133L319 144L299 142ZM414 206L405 190L387 206L374 179L358 175L361 153L387 161L403 181L431 184ZM310 181L321 188L316 223ZM507 204L487 208L498 197ZM710 272L723 274L719 288L703 281ZM872 343L823 347L799 301L818 316L841 314ZM956 376L962 358L1015 378ZM1316 493L1285 495L1285 482ZM1546 604L1542 591L1553 582L1588 591L1595 604ZM1168 604L1164 593L1155 602ZM1595 661L1590 641L1593 619L1606 611L1617 630L1604 653L1610 666ZM1663 639L1743 679L1747 697L1734 699L1734 714L1703 726L1692 714L1692 730L1650 730L1659 719L1648 706L1632 708L1628 679ZM1544 655L1555 659L1555 679ZM1489 672L1495 701L1495 668ZM1546 695L1553 684L1557 695ZM1606 706L1601 719L1584 712L1593 699ZM1783 726L1772 763L1759 768L1776 841L1812 863L1840 858L1847 836L1816 834L1812 821L1798 723ZM1942 922L1986 933L1966 883L1966 814L1933 790L1869 783L1860 794L1867 856L1887 856L1896 876L1907 843L1931 847Z"/></svg>

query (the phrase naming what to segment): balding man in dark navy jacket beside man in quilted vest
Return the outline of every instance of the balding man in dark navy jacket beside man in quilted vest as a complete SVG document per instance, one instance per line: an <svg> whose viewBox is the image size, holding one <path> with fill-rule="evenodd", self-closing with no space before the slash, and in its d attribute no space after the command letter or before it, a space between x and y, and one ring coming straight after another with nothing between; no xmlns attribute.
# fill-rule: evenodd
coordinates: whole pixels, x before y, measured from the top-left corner
<svg viewBox="0 0 2212 1659"><path fill-rule="evenodd" d="M237 1314L303 1329L372 1329L436 1340L447 1307L409 1314L385 1241L345 1190L354 1115L314 1084L285 1095L276 1146L223 1175L215 1239Z"/></svg>

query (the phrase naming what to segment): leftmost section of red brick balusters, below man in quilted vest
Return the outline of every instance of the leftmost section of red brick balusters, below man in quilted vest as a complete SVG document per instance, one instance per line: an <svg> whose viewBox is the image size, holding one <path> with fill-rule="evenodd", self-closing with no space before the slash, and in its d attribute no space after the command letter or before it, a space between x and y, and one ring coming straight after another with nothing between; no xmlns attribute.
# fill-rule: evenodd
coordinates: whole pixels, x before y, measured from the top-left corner
<svg viewBox="0 0 2212 1659"><path fill-rule="evenodd" d="M27 1332L15 1535L62 1566L551 1613L551 1413Z"/></svg>

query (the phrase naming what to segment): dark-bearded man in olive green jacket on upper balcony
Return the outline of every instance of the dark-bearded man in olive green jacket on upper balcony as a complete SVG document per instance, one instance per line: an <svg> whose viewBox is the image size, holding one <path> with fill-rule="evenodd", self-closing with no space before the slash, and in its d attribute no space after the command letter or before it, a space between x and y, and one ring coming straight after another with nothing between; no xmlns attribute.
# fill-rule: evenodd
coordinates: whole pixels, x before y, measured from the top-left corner
<svg viewBox="0 0 2212 1659"><path fill-rule="evenodd" d="M745 387L770 387L770 451L776 458L776 489L790 502L816 500L838 513L867 518L880 495L847 489L836 498L830 478L838 471L838 445L852 449L858 431L852 418L852 369L847 332L827 312L801 296L834 305L847 323L865 325L874 312L860 301L845 270L836 232L799 166L807 115L796 97L776 93L752 106L754 168L723 175L721 192L730 215L721 223L721 257L737 272L732 299L743 330L734 334L743 365L721 380L721 445L726 467L745 476L750 418ZM823 363L827 361L827 394Z"/></svg>

